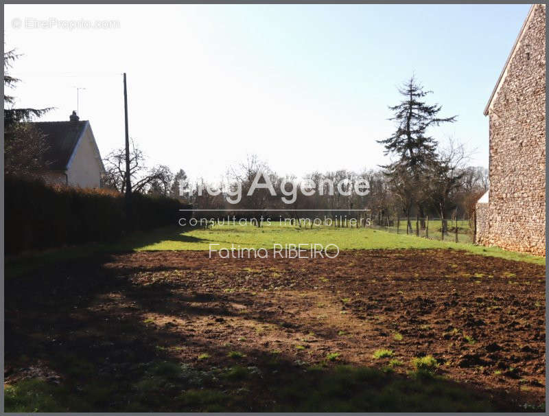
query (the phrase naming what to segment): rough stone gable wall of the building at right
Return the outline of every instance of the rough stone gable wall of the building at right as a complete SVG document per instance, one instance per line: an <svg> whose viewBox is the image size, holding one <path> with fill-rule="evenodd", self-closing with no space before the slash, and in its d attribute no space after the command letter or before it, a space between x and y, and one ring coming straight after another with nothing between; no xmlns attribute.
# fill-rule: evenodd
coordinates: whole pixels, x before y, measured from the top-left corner
<svg viewBox="0 0 549 416"><path fill-rule="evenodd" d="M535 4L484 110L489 194L476 209L476 242L545 255L545 19Z"/></svg>

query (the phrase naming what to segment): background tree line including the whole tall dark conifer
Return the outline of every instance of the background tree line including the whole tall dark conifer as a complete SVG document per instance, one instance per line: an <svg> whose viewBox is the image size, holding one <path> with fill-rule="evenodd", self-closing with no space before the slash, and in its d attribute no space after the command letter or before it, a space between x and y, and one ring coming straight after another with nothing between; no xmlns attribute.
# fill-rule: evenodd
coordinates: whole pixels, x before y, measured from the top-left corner
<svg viewBox="0 0 549 416"><path fill-rule="evenodd" d="M425 97L431 92L425 91L413 77L399 89L403 99L389 107L394 114L390 120L395 123L395 132L378 140L384 145L385 154L391 158L387 165L362 172L311 172L301 181L311 179L317 186L314 189L316 192L307 195L298 189L295 202L288 205L279 198L283 193L281 183L287 181L288 176L278 176L266 163L252 156L236 168L229 169L223 183L209 184L219 190L218 195L200 195L198 189L203 184L199 180L188 198L197 210L252 210L248 214L241 211L239 216L256 216L267 209L283 209L285 215L315 209L325 210L329 215L344 212L347 216L353 216L357 210L368 209L370 215L379 221L388 216L406 218L409 229L412 227L410 218L413 217L421 218L422 228L425 227L423 219L429 215L443 221L451 213L470 219L476 200L488 189L488 170L469 165L471 152L458 139L449 138L441 145L434 137L434 128L454 123L457 117L442 117L442 106L428 104ZM267 189L257 189L252 196L246 195L257 172L268 175L277 189L276 197L270 195ZM369 193L365 196L348 195L344 188L343 192L334 189L334 194L328 195L327 189L322 189L323 192L319 189L325 180L335 183L346 181L351 189L357 181L366 181ZM242 200L237 204L228 203L227 194L236 188L242 189ZM222 214L218 213L218 216Z"/></svg>

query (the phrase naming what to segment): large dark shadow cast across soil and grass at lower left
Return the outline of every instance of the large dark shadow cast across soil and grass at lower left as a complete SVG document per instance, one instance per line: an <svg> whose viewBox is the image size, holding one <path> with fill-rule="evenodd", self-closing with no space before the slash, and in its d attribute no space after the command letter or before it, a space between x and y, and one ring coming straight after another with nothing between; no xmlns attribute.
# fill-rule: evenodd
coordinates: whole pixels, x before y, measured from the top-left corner
<svg viewBox="0 0 549 416"><path fill-rule="evenodd" d="M245 296L175 295L162 282L136 285L128 278L135 268L108 270L108 261L104 254L73 259L5 281L5 362L12 380L5 387L6 411L524 410L505 392L422 373L407 377L337 360L310 365L252 347L228 358L229 347L220 342L148 325L143 316L231 316L226 308L201 303L246 303ZM151 291L152 299L164 301L153 301ZM113 301L97 303L105 297ZM269 322L261 314L249 317ZM321 326L311 329L321 333ZM198 357L182 360L165 345L193 345L208 351L216 365Z"/></svg>

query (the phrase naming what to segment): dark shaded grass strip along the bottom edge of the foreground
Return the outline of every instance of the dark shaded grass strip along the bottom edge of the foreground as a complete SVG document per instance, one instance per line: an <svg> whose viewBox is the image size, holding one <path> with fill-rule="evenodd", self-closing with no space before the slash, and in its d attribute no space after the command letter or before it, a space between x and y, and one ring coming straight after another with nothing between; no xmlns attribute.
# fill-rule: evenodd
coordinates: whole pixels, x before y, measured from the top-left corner
<svg viewBox="0 0 549 416"><path fill-rule="evenodd" d="M132 384L52 385L25 380L6 390L6 411L495 411L486 396L430 376L405 378L369 367L296 369L233 365L209 370L153 361ZM283 375L273 375L283 371ZM251 392L261 385L261 396ZM116 393L115 393L116 392ZM113 395L115 397L113 397Z"/></svg>

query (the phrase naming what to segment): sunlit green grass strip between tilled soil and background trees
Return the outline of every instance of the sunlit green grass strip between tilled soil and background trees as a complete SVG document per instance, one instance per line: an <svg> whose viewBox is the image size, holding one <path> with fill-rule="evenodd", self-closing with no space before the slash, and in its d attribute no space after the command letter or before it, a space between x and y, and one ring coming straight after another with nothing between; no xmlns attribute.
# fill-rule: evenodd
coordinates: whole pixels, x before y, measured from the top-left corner
<svg viewBox="0 0 549 416"><path fill-rule="evenodd" d="M272 249L277 244L336 244L340 250L372 249L455 249L465 250L478 255L502 257L504 259L545 264L545 257L505 251L498 247L475 246L468 243L430 240L401 233L375 229L351 229L334 227L299 228L272 224L257 228L252 225L215 225L211 229L183 229L166 227L148 232L137 232L110 244L83 244L81 246L51 249L40 253L31 253L6 259L7 277L21 275L36 267L53 264L63 259L86 257L93 253L113 253L117 251L161 251L161 250L209 250L231 248L235 246Z"/></svg>

